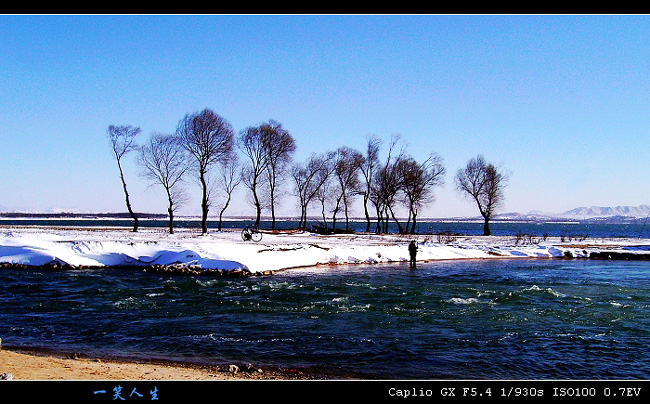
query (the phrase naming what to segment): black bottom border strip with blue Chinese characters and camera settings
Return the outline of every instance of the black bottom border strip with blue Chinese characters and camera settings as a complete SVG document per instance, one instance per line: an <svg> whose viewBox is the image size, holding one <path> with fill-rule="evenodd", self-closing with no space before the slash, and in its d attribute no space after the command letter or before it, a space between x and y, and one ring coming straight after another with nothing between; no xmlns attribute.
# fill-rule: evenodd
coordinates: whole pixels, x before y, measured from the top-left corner
<svg viewBox="0 0 650 404"><path fill-rule="evenodd" d="M234 381L2 381L3 400L66 402L422 402L423 400L486 402L607 399L639 402L650 397L645 380L234 380ZM119 392L119 397L116 393ZM120 398L124 399L121 400ZM610 402L611 402L610 401Z"/></svg>

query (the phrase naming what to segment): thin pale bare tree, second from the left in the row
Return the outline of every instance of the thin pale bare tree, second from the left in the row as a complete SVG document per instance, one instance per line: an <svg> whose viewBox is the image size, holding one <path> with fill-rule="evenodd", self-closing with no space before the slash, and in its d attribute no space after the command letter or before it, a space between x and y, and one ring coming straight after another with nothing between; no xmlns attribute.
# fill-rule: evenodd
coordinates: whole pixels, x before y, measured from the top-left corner
<svg viewBox="0 0 650 404"><path fill-rule="evenodd" d="M186 199L180 188L183 175L187 172L188 160L185 150L174 135L154 133L149 141L140 147L140 165L144 176L165 188L169 233L174 233L174 211Z"/></svg>

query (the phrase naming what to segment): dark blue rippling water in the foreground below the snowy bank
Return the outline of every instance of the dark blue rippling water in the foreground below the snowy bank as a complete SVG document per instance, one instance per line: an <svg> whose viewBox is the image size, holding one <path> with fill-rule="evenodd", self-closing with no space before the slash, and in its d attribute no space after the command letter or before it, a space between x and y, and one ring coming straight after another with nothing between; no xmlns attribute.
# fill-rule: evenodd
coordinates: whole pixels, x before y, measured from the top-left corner
<svg viewBox="0 0 650 404"><path fill-rule="evenodd" d="M7 346L387 379L649 379L645 262L441 261L269 277L2 270Z"/></svg>

